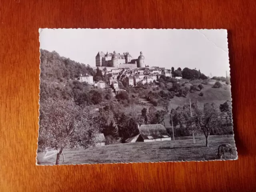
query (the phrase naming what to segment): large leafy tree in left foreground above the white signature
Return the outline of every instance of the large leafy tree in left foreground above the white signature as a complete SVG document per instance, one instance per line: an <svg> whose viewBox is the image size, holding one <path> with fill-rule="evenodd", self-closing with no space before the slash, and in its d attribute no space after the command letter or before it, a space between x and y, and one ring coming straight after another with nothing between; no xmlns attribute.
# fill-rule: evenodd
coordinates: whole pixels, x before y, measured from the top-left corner
<svg viewBox="0 0 256 192"><path fill-rule="evenodd" d="M91 110L71 100L40 100L38 149L50 147L58 150L55 164L59 164L64 148L94 145L99 126Z"/></svg>

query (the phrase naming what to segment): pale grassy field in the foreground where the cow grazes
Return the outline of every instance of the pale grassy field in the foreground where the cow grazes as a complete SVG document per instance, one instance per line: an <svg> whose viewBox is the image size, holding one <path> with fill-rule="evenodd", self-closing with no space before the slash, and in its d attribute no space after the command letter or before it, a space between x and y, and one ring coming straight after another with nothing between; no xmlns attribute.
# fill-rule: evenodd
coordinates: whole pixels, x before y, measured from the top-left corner
<svg viewBox="0 0 256 192"><path fill-rule="evenodd" d="M128 162L167 162L167 161L204 161L216 160L220 144L229 143L233 146L234 156L237 153L234 138L231 135L210 136L209 147L205 146L204 136L176 138L175 141L136 142L98 146L80 150L64 150L65 162L60 164L95 164L95 163L128 163ZM56 155L47 159L44 153L38 153L38 164L54 164ZM226 159L231 159L226 153Z"/></svg>

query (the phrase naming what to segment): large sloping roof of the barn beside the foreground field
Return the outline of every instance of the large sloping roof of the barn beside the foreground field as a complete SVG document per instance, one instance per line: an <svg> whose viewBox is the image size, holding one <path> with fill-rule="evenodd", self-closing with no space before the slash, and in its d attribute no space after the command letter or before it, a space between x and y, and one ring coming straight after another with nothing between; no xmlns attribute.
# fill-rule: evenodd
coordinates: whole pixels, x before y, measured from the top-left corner
<svg viewBox="0 0 256 192"><path fill-rule="evenodd" d="M162 124L141 125L139 128L143 139L157 139L170 137Z"/></svg>

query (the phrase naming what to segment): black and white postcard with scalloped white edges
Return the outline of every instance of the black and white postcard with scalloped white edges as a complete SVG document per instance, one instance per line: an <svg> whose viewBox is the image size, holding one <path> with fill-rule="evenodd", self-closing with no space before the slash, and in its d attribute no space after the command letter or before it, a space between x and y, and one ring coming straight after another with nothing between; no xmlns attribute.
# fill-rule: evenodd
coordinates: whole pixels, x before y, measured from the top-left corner
<svg viewBox="0 0 256 192"><path fill-rule="evenodd" d="M40 28L36 164L238 159L227 37Z"/></svg>

